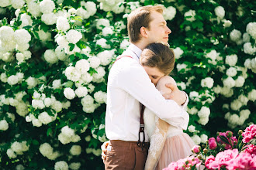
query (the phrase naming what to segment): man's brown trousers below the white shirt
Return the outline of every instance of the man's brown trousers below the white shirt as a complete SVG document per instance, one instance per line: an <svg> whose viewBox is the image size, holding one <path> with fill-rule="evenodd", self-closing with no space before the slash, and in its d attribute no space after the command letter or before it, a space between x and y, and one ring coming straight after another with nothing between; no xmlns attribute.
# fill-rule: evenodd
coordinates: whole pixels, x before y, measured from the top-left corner
<svg viewBox="0 0 256 170"><path fill-rule="evenodd" d="M106 153L105 169L144 170L149 143L144 149L136 141L110 140Z"/></svg>

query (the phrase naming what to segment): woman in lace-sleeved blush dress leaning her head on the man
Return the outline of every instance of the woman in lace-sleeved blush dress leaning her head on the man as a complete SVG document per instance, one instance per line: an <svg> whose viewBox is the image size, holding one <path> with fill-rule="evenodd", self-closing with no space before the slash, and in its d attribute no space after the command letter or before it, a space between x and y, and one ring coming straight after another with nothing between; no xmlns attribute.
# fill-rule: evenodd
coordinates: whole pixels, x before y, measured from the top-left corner
<svg viewBox="0 0 256 170"><path fill-rule="evenodd" d="M175 80L168 76L174 69L175 56L168 46L157 42L151 43L141 53L140 64L163 96L171 93L171 89L165 87L165 84L175 83ZM183 133L189 119L168 124L146 108L144 124L150 137L145 169L163 169L171 162L192 155L191 149L195 143L188 134Z"/></svg>

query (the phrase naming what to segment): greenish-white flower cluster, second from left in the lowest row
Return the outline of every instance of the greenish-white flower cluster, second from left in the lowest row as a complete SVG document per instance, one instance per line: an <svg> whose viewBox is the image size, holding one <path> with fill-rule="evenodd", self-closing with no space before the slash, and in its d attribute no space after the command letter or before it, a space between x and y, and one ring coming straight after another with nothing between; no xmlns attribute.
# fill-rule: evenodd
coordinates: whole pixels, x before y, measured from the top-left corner
<svg viewBox="0 0 256 170"><path fill-rule="evenodd" d="M47 157L50 160L55 160L60 156L60 153L58 151L54 151L54 148L52 148L48 143L40 145L39 151L44 157Z"/></svg>

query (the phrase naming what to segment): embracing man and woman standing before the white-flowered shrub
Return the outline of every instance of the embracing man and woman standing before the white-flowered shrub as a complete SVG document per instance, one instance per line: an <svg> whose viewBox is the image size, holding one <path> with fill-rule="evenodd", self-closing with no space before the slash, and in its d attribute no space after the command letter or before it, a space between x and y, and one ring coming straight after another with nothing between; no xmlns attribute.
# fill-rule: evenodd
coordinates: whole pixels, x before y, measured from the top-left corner
<svg viewBox="0 0 256 170"><path fill-rule="evenodd" d="M192 155L195 143L183 133L189 98L168 76L175 56L162 12L160 5L144 6L128 16L131 45L109 72L106 169L162 169Z"/></svg>

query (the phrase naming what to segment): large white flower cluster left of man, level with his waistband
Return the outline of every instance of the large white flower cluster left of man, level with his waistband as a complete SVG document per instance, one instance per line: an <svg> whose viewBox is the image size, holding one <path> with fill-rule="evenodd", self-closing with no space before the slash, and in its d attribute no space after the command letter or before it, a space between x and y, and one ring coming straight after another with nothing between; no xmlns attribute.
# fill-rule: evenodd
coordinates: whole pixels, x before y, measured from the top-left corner
<svg viewBox="0 0 256 170"><path fill-rule="evenodd" d="M58 139L63 145L81 140L80 136L74 133L74 129L71 129L68 126L61 128L61 133L58 135Z"/></svg>

